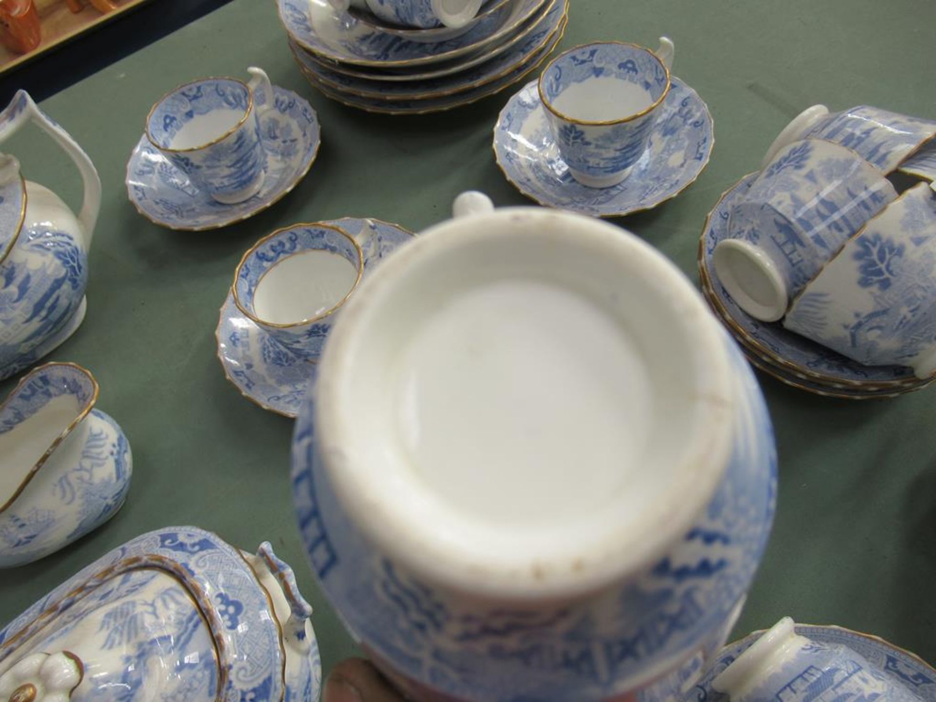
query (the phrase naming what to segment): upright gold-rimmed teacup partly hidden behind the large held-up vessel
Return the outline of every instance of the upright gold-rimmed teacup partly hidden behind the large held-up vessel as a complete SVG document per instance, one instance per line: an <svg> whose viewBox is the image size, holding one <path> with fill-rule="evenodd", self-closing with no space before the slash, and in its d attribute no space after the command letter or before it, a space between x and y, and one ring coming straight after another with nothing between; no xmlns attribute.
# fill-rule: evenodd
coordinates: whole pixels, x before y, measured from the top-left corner
<svg viewBox="0 0 936 702"><path fill-rule="evenodd" d="M232 286L234 303L300 358L316 360L334 314L358 287L363 271L363 251L343 229L284 227L241 258Z"/></svg>

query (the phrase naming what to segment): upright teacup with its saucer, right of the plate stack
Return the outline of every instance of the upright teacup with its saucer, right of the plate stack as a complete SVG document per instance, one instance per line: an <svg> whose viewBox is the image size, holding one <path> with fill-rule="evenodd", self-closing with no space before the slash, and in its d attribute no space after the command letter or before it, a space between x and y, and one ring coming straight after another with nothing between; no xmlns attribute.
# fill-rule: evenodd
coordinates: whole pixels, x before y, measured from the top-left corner
<svg viewBox="0 0 936 702"><path fill-rule="evenodd" d="M651 209L694 183L713 124L705 102L670 74L673 52L661 37L656 52L599 42L554 59L494 126L507 180L541 205L599 217Z"/></svg>

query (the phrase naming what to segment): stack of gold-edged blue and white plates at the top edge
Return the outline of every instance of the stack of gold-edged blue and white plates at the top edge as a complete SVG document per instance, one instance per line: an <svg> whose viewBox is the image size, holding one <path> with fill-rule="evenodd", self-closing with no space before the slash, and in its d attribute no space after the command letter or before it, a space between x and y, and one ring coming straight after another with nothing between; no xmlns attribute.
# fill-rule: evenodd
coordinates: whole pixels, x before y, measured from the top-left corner
<svg viewBox="0 0 936 702"><path fill-rule="evenodd" d="M568 0L487 0L467 27L413 29L329 0L277 3L313 86L384 114L451 110L523 80L556 48L568 16Z"/></svg>

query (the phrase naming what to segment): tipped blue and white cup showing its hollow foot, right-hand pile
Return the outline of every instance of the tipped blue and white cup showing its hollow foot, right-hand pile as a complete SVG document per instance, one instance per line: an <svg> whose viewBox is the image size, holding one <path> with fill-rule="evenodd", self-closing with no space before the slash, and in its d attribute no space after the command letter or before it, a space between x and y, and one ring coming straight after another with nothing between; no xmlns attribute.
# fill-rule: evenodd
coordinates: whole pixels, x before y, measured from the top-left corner
<svg viewBox="0 0 936 702"><path fill-rule="evenodd" d="M888 202L894 186L851 149L822 139L782 148L736 204L715 247L719 282L742 310L774 322Z"/></svg>

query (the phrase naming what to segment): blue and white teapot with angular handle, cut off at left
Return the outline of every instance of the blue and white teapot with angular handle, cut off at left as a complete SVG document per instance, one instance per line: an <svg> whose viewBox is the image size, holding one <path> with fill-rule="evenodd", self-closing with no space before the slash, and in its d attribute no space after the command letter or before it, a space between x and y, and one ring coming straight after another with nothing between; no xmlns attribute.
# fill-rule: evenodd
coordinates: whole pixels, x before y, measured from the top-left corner
<svg viewBox="0 0 936 702"><path fill-rule="evenodd" d="M0 112L0 142L33 122L68 154L84 182L76 217L49 188L26 181L0 154L0 380L49 354L79 328L87 307L88 248L101 181L88 155L21 90Z"/></svg>

